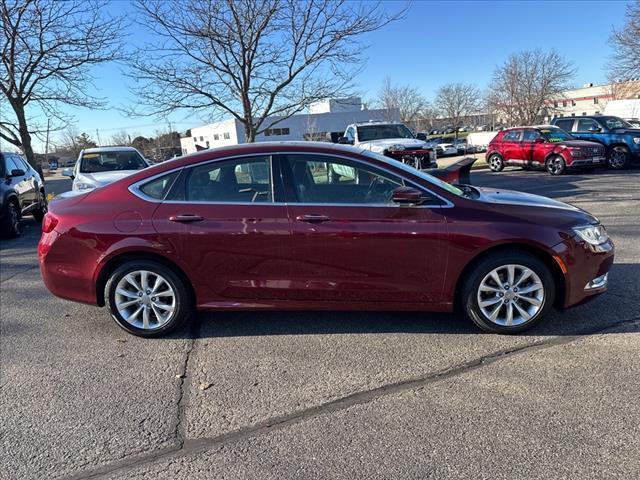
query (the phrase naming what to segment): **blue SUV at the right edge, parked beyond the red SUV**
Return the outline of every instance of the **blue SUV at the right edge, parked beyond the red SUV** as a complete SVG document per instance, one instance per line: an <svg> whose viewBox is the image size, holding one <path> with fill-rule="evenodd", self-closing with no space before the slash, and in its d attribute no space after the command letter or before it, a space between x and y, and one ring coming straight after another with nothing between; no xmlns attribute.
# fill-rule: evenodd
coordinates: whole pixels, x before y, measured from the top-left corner
<svg viewBox="0 0 640 480"><path fill-rule="evenodd" d="M574 137L604 145L607 164L620 170L640 162L640 129L619 117L594 115L556 118L551 123Z"/></svg>

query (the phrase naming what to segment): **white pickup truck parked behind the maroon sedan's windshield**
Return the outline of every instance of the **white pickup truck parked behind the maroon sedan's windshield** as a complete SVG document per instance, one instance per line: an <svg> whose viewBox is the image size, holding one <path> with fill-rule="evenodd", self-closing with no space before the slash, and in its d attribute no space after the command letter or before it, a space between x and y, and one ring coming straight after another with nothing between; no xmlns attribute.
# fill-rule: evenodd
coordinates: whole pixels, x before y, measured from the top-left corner
<svg viewBox="0 0 640 480"><path fill-rule="evenodd" d="M348 125L338 143L354 145L399 160L419 170L437 168L434 149L426 137L416 138L398 122L367 122Z"/></svg>

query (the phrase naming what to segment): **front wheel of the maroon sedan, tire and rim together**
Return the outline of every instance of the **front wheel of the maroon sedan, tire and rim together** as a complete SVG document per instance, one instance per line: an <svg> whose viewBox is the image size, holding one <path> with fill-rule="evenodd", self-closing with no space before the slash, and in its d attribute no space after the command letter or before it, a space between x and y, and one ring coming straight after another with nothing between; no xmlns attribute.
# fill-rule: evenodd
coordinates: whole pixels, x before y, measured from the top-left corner
<svg viewBox="0 0 640 480"><path fill-rule="evenodd" d="M539 323L553 305L547 266L525 252L491 255L475 266L462 290L465 312L487 332L517 333Z"/></svg>

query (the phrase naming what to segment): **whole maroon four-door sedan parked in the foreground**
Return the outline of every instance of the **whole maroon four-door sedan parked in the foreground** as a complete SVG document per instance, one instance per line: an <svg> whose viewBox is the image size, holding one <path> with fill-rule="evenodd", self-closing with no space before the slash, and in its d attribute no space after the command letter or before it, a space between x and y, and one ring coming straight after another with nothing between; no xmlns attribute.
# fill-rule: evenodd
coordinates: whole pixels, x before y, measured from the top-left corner
<svg viewBox="0 0 640 480"><path fill-rule="evenodd" d="M453 186L353 147L207 150L50 203L52 293L136 335L197 310L448 312L525 330L607 288L613 244L587 212Z"/></svg>

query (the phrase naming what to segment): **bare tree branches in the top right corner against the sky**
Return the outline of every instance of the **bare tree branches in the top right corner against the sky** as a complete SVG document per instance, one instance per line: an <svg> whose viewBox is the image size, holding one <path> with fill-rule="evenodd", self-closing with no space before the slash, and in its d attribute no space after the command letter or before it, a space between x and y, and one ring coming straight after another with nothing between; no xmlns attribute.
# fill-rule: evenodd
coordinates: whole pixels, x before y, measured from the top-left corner
<svg viewBox="0 0 640 480"><path fill-rule="evenodd" d="M640 78L640 1L627 5L627 21L609 39L615 52L609 67L617 81Z"/></svg>

